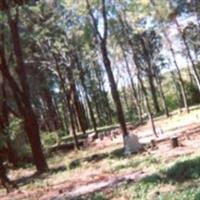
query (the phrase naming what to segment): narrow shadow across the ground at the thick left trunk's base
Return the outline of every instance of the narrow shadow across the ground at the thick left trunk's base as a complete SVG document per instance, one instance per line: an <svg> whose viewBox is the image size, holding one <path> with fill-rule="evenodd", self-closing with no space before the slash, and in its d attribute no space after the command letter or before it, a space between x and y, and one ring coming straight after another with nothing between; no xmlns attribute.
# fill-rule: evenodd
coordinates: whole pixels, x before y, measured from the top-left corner
<svg viewBox="0 0 200 200"><path fill-rule="evenodd" d="M67 168L65 166L59 166L59 167L56 167L56 168L51 168L45 173L36 172L36 173L29 175L29 176L23 176L23 177L15 180L14 183L17 184L18 186L27 185L27 184L31 183L32 181L34 181L36 179L42 180L42 179L47 178L50 174L62 172L62 171L65 171L65 170L67 170Z"/></svg>

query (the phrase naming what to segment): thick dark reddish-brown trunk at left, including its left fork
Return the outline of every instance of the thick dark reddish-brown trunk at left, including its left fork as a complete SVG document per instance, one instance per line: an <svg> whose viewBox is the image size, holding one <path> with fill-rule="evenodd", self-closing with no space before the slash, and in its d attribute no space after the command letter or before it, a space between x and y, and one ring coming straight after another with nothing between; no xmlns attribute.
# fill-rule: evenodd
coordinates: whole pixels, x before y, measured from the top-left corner
<svg viewBox="0 0 200 200"><path fill-rule="evenodd" d="M36 168L38 171L43 172L48 169L48 166L47 166L46 159L42 151L37 119L33 112L31 102L30 102L29 87L27 83L27 74L26 74L26 69L23 62L20 37L19 37L19 32L18 32L18 15L16 15L15 18L12 19L10 15L10 10L8 10L7 17L8 17L10 30L11 30L11 36L13 40L12 41L13 49L14 49L16 62L17 62L17 74L20 80L22 91L20 91L20 89L17 86L17 83L14 81L11 74L9 73L8 66L6 64L5 55L1 55L2 56L1 62L2 62L3 67L5 67L5 69L2 69L1 71L4 77L8 80L8 82L10 82L9 84L16 98L17 105L19 106L19 111L21 112L21 115L23 117L25 131L29 138Z"/></svg>

